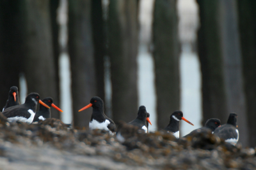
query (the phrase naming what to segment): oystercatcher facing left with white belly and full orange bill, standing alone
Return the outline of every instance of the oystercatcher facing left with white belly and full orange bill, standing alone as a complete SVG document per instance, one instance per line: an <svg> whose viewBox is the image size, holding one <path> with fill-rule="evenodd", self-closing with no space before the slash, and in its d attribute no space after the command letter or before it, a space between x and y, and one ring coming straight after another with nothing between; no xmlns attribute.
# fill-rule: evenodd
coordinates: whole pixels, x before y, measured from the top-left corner
<svg viewBox="0 0 256 170"><path fill-rule="evenodd" d="M79 112L83 111L84 109L88 109L92 107L92 117L89 123L90 129L102 129L108 130L110 132L116 132L116 125L113 120L109 119L106 114L104 113L104 102L99 97L93 97L90 100L90 104L86 105Z"/></svg>

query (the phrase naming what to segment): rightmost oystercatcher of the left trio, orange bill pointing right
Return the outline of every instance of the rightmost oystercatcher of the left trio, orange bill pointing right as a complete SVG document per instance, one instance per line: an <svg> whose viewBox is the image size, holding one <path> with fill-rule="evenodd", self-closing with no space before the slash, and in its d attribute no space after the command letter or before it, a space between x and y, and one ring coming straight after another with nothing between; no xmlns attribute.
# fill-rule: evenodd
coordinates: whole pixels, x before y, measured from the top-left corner
<svg viewBox="0 0 256 170"><path fill-rule="evenodd" d="M42 102L44 102L44 104L48 105L49 107L54 107L58 111L63 112L59 107L53 104L51 97L44 98ZM36 112L33 122L36 122L39 120L45 120L47 118L51 118L51 109L44 107L44 105L40 105L39 111Z"/></svg>

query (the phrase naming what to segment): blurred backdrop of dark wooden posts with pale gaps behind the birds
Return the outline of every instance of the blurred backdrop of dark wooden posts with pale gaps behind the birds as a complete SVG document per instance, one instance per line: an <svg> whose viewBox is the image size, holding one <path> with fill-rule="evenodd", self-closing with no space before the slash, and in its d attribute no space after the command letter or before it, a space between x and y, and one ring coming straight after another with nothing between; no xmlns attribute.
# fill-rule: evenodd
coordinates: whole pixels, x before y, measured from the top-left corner
<svg viewBox="0 0 256 170"><path fill-rule="evenodd" d="M98 96L114 121L150 113L151 131L182 110L181 134L237 112L256 141L256 1L1 0L0 105L11 86L52 97L52 118L87 127Z"/></svg>

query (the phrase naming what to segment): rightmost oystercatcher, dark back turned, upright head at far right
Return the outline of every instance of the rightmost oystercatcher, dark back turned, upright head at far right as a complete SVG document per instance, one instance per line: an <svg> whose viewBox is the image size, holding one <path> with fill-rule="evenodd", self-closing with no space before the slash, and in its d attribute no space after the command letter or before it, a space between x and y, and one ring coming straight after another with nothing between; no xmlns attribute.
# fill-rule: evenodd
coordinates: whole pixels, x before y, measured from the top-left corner
<svg viewBox="0 0 256 170"><path fill-rule="evenodd" d="M227 124L221 125L214 130L214 134L218 137L225 139L225 142L236 145L239 140L239 131L237 129L237 114L230 113Z"/></svg>

